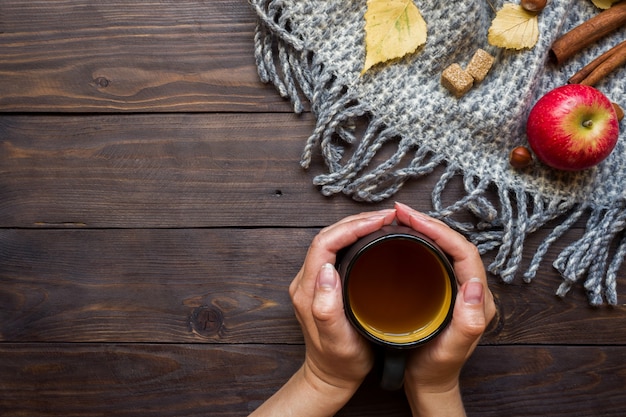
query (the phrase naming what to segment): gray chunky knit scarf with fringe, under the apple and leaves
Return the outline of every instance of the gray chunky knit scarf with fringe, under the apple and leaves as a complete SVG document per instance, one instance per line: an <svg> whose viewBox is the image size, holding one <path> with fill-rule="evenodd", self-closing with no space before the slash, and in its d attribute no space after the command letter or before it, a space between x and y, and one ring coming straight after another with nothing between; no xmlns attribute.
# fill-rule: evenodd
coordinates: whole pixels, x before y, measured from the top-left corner
<svg viewBox="0 0 626 417"><path fill-rule="evenodd" d="M552 42L598 13L591 1L549 1L539 15L537 45L512 51L487 43L494 11L486 0L415 0L428 24L426 44L361 77L366 0L250 1L258 15L261 80L290 98L296 113L308 101L316 118L301 164L307 168L315 153L323 155L328 172L313 181L324 195L379 202L406 181L444 167L431 190L429 214L464 233L481 253L497 250L488 270L505 282L514 279L529 234L554 225L523 274L526 282L550 245L586 218L583 235L554 260L563 277L556 293L564 296L582 280L591 304L617 304L616 274L626 254L624 123L611 156L587 171L560 172L540 163L519 171L510 167L508 154L526 144L526 118L536 100L626 38L626 28L556 67L548 62ZM498 9L502 1L492 5ZM441 72L454 62L466 65L477 48L496 63L481 84L457 99L441 86ZM626 70L596 88L625 106ZM355 130L363 121L363 131ZM393 154L377 160L390 146ZM442 195L459 176L465 193L446 205ZM487 198L493 190L496 203ZM477 221L454 219L466 211Z"/></svg>

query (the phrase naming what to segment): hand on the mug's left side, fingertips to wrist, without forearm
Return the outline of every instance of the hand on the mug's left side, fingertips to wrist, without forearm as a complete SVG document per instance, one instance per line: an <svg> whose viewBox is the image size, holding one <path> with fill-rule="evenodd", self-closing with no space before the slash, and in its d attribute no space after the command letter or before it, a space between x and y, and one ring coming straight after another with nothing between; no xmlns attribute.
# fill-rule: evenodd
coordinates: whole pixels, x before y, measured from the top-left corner
<svg viewBox="0 0 626 417"><path fill-rule="evenodd" d="M362 213L326 227L315 237L289 287L306 342L304 370L315 384L352 393L371 370L369 344L352 327L343 306L337 252L390 224L395 210Z"/></svg>

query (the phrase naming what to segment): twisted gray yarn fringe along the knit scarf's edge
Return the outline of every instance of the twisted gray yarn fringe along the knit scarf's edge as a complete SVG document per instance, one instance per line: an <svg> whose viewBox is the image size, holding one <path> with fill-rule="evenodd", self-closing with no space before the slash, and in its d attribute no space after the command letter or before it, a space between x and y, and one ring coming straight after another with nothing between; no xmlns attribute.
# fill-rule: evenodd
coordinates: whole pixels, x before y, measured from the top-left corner
<svg viewBox="0 0 626 417"><path fill-rule="evenodd" d="M487 269L506 283L511 283L518 272L524 243L530 234L549 222L559 221L541 242L524 272L527 283L535 278L551 245L588 214L583 235L563 249L553 262L563 279L556 295L564 297L583 280L591 305L602 305L605 301L617 305L617 273L626 255L623 202L610 208L597 208L558 198L549 200L464 173L444 157L401 137L359 103L358 97L305 49L304 42L285 29L289 23L281 13L280 0L251 0L251 3L259 16L255 58L260 79L272 83L282 97L290 99L295 113L304 111L303 97L311 105L316 127L306 141L300 164L309 168L319 148L329 172L316 176L313 183L323 195L343 193L357 201L380 202L393 196L407 180L444 167L432 191L433 211L428 214L467 236L481 254L497 250ZM366 120L366 127L357 137L355 126L361 120ZM397 148L384 162L370 167L385 145ZM348 147L352 149L350 156L346 156ZM401 166L407 160L406 166ZM442 195L450 180L459 176L463 178L465 194L444 206ZM487 197L488 190L494 187L498 206ZM453 218L463 211L473 214L477 221L461 222Z"/></svg>

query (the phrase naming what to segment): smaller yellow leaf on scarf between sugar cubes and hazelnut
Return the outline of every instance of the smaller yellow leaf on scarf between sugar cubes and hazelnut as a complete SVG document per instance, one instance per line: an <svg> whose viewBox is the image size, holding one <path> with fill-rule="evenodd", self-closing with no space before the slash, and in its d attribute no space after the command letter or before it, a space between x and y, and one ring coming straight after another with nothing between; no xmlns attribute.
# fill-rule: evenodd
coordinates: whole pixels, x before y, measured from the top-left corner
<svg viewBox="0 0 626 417"><path fill-rule="evenodd" d="M505 3L491 22L487 40L493 46L509 49L532 48L539 40L537 13Z"/></svg>

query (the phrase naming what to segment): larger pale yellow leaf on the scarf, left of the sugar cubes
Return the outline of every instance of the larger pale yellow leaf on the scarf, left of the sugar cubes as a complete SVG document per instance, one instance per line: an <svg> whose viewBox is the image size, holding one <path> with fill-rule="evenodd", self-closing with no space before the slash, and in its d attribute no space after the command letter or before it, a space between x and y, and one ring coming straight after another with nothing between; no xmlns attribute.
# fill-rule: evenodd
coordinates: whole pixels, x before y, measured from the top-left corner
<svg viewBox="0 0 626 417"><path fill-rule="evenodd" d="M415 52L425 42L426 22L413 0L368 0L361 75L378 63Z"/></svg>

